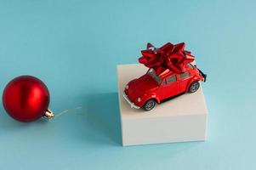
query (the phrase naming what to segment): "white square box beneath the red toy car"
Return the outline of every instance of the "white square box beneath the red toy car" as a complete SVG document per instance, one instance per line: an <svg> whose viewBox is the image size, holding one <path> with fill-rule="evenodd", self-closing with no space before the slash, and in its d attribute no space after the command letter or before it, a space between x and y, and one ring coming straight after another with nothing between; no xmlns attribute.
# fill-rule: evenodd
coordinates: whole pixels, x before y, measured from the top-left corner
<svg viewBox="0 0 256 170"><path fill-rule="evenodd" d="M146 71L144 65L117 65L122 145L205 140L208 109L202 88L156 105L151 111L128 105L122 97L123 89Z"/></svg>

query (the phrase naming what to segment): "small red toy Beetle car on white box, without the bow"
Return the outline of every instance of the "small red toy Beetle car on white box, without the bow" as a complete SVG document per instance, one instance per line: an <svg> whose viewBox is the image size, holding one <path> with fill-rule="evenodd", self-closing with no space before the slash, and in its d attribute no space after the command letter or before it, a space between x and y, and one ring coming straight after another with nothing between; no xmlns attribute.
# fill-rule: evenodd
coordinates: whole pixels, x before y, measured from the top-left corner
<svg viewBox="0 0 256 170"><path fill-rule="evenodd" d="M132 108L151 111L163 99L185 92L196 92L200 87L199 81L206 81L206 75L191 63L183 65L180 72L164 70L156 74L156 68L150 68L142 77L128 82L123 97Z"/></svg>

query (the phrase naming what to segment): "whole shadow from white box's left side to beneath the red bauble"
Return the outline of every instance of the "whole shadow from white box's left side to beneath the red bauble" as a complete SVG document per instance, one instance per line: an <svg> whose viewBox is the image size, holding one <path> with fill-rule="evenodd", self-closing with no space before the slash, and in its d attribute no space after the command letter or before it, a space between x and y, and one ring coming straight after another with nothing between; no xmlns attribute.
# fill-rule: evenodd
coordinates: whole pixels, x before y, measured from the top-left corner
<svg viewBox="0 0 256 170"><path fill-rule="evenodd" d="M49 135L54 139L72 139L74 142L82 139L93 145L121 145L117 93L87 94L82 100L81 110L67 110L63 116L50 122L43 118L29 123L15 121L0 105L0 133L23 133L34 138L34 133L44 132L40 138L48 138Z"/></svg>

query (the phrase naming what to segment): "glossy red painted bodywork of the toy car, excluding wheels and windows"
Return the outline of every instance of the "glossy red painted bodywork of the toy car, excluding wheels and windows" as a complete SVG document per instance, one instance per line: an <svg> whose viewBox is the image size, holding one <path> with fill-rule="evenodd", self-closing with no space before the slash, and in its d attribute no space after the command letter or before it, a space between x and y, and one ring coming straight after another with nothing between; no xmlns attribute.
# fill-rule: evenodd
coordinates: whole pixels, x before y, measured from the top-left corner
<svg viewBox="0 0 256 170"><path fill-rule="evenodd" d="M190 74L189 77L180 78L179 73L167 70L159 76L161 77L161 82L158 83L149 75L148 71L142 77L128 82L124 92L128 99L139 107L145 105L145 102L149 99L156 99L159 104L163 99L187 92L192 82L203 81L203 77L196 66L191 65L190 67L189 65L185 65L184 68L184 72ZM176 81L167 83L166 81L169 77L176 77ZM138 98L140 101L138 101Z"/></svg>

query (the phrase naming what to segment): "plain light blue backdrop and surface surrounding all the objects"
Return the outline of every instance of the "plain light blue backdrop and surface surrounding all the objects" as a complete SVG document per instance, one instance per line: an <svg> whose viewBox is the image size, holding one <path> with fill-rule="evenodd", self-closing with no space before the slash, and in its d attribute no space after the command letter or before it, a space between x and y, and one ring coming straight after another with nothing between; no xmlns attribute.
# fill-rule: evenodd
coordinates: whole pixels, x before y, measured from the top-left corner
<svg viewBox="0 0 256 170"><path fill-rule="evenodd" d="M255 1L0 0L0 91L29 74L62 116L21 123L0 107L1 169L253 169ZM186 42L208 103L206 142L121 146L117 64L147 42ZM80 109L76 109L77 107Z"/></svg>

